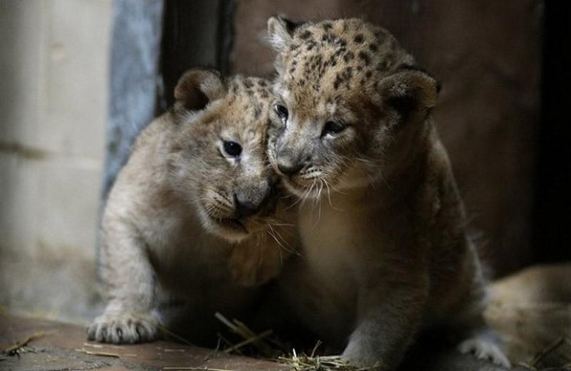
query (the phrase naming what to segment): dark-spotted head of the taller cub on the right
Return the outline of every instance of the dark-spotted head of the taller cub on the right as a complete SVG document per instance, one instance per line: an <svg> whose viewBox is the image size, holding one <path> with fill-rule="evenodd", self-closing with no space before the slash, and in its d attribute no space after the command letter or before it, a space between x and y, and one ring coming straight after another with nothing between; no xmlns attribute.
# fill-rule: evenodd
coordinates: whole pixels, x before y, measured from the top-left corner
<svg viewBox="0 0 571 371"><path fill-rule="evenodd" d="M272 17L268 32L278 52L268 154L291 192L377 181L418 145L439 88L386 30Z"/></svg>

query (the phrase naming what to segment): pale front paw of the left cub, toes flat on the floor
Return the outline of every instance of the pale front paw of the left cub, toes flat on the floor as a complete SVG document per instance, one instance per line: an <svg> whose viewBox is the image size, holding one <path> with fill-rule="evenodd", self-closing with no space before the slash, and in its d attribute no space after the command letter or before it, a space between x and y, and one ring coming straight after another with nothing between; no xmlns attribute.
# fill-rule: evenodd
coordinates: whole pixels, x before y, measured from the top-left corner
<svg viewBox="0 0 571 371"><path fill-rule="evenodd" d="M148 314L103 314L89 325L87 338L114 344L154 341L158 338L158 321Z"/></svg>

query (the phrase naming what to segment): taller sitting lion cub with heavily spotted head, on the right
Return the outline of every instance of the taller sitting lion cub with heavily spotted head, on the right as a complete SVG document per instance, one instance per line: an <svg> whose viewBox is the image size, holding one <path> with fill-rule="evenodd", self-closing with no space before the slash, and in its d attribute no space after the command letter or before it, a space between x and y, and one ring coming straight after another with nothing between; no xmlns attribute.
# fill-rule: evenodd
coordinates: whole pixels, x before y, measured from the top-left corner
<svg viewBox="0 0 571 371"><path fill-rule="evenodd" d="M430 111L438 84L360 19L273 17L269 157L299 210L302 260L280 280L306 325L357 365L393 370L421 330L508 365L482 321L484 280ZM347 340L348 339L348 340Z"/></svg>

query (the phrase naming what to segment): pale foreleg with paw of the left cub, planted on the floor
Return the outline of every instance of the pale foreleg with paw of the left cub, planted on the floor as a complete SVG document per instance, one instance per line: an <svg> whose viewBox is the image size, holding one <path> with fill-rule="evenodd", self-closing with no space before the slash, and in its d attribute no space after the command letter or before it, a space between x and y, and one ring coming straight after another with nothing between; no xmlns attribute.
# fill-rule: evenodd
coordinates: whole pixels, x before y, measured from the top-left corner
<svg viewBox="0 0 571 371"><path fill-rule="evenodd" d="M141 343L158 336L154 309L155 282L145 244L135 228L114 220L102 234L102 275L109 302L93 320L89 340L102 343Z"/></svg>

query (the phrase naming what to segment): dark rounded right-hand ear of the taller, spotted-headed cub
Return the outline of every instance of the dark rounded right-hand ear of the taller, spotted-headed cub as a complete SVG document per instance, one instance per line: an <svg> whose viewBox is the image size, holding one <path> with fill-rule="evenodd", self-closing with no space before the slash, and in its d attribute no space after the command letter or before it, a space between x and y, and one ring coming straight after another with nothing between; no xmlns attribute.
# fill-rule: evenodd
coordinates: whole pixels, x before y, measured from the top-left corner
<svg viewBox="0 0 571 371"><path fill-rule="evenodd" d="M432 109L436 105L440 85L426 71L406 66L383 78L377 84L377 93L386 105L399 114L408 115L420 109Z"/></svg>

